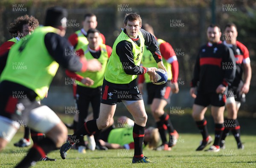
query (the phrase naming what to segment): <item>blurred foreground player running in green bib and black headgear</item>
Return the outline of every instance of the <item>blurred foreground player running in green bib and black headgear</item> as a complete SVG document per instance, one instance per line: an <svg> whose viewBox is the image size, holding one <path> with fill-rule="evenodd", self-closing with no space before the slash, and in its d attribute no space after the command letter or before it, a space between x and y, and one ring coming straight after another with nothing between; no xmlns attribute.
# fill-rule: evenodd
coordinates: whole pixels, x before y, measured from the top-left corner
<svg viewBox="0 0 256 168"><path fill-rule="evenodd" d="M54 111L36 101L36 97L43 99L47 94L59 65L71 71L101 69L97 60L86 61L74 56L74 53L67 53L71 46L64 38L66 23L66 9L48 9L45 26L37 28L27 40L16 43L8 55L0 57L8 56L0 78L0 150L16 134L20 127L18 121L46 135L46 138L34 143L17 168L35 165L41 157L60 147L67 137L67 128ZM13 62L23 63L26 69L14 71Z"/></svg>

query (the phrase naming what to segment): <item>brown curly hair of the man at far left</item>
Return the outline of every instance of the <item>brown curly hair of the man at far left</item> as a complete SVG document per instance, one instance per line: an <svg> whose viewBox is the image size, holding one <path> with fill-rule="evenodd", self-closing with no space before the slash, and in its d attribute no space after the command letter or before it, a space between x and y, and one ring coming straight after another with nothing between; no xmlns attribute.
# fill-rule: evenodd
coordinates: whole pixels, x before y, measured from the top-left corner
<svg viewBox="0 0 256 168"><path fill-rule="evenodd" d="M28 24L33 29L39 26L39 22L35 17L29 17L29 15L26 14L24 16L17 17L17 19L15 19L13 23L11 23L11 27L8 28L9 32L11 34L17 34L18 31L22 32L23 25L26 24Z"/></svg>

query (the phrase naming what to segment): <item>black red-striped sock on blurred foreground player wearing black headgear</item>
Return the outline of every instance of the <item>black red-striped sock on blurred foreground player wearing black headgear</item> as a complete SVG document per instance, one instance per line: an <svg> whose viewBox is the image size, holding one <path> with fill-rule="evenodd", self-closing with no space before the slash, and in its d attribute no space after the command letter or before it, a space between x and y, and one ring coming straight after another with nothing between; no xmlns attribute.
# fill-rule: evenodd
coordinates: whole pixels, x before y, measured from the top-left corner
<svg viewBox="0 0 256 168"><path fill-rule="evenodd" d="M29 150L26 157L16 166L16 168L28 168L34 165L47 153L55 150L56 144L50 138L46 137L38 143L34 143L33 147Z"/></svg>

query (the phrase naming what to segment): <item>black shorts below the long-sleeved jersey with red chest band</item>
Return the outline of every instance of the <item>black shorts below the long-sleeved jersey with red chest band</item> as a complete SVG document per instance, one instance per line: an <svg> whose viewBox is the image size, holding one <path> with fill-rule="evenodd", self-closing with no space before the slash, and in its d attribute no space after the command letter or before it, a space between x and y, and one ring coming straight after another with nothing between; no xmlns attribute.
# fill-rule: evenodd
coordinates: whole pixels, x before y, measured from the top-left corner
<svg viewBox="0 0 256 168"><path fill-rule="evenodd" d="M202 105L204 107L207 107L208 105L222 107L225 105L225 102L226 102L225 95L217 94L216 92L202 93L198 91L195 98L195 104Z"/></svg>

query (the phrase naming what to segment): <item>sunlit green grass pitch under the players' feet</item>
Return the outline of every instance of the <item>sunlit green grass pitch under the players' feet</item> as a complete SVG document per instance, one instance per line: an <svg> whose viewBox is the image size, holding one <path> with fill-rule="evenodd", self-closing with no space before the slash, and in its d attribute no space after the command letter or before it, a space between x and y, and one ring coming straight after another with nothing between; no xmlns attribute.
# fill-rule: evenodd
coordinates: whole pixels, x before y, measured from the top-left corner
<svg viewBox="0 0 256 168"><path fill-rule="evenodd" d="M12 168L26 155L29 148L17 148L13 145L23 136L20 129L6 149L0 152L0 167ZM213 136L211 134L211 136ZM67 159L62 160L59 151L48 154L57 159L56 162L37 162L33 168L245 168L256 167L255 136L242 135L245 149L238 150L233 135L226 139L226 149L218 153L195 151L201 140L200 134L182 134L172 151L151 151L144 149L143 153L155 163L131 164L133 150L89 151L79 154L70 150ZM207 147L208 148L208 147Z"/></svg>

